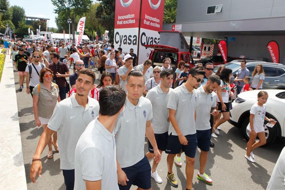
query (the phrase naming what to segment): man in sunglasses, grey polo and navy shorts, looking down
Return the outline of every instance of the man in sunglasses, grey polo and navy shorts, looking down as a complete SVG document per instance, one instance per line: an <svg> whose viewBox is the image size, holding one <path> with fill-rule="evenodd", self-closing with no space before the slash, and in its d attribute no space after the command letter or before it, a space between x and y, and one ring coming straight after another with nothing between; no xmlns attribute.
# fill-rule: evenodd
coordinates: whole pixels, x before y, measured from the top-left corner
<svg viewBox="0 0 285 190"><path fill-rule="evenodd" d="M167 108L169 109L170 125L168 129L168 141L165 152L167 156L167 179L173 186L178 186L174 177L172 166L176 154L185 152L186 155L186 189L192 189L194 174L194 162L197 148L197 136L195 128L196 107L199 96L194 89L203 83L205 71L193 67L189 71L185 83L175 88L170 94Z"/></svg>

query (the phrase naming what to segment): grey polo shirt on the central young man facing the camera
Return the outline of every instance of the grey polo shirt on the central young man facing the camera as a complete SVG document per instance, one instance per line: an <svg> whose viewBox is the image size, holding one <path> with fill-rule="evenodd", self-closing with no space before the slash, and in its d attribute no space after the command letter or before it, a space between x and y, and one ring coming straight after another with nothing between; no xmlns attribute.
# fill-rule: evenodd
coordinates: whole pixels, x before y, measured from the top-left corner
<svg viewBox="0 0 285 190"><path fill-rule="evenodd" d="M140 97L135 106L126 98L125 107L114 128L117 160L121 168L133 166L144 158L145 126L146 121L151 119L152 105L149 99Z"/></svg>

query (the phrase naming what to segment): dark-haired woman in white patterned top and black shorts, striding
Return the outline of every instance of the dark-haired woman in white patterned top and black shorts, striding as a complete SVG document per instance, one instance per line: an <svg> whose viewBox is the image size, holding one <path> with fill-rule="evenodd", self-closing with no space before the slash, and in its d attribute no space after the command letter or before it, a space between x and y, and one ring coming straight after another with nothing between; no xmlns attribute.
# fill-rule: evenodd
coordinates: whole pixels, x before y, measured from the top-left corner
<svg viewBox="0 0 285 190"><path fill-rule="evenodd" d="M213 127L213 130L218 135L218 126L223 124L224 122L230 119L230 103L229 97L233 97L233 92L231 92L231 87L229 83L231 82L231 75L233 70L230 68L224 68L220 74L221 85L217 88L217 96L218 96L218 111L221 111L223 117L219 119ZM215 133L212 133L212 137L217 138Z"/></svg>

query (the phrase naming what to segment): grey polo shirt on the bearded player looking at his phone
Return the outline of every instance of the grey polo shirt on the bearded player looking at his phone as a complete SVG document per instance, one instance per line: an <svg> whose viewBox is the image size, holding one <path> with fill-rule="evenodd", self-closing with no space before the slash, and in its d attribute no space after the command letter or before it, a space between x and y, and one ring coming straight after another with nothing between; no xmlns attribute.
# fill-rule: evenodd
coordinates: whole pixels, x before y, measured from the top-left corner
<svg viewBox="0 0 285 190"><path fill-rule="evenodd" d="M199 97L199 105L196 107L196 130L208 130L211 128L211 108L217 105L217 94L215 92L207 94L203 86L196 89L195 93Z"/></svg>

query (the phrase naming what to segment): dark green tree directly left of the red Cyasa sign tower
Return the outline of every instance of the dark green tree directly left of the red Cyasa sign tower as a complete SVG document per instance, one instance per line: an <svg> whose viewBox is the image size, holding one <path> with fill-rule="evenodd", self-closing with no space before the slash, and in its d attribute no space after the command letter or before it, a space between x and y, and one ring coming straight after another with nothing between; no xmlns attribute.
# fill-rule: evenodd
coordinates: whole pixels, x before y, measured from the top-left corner
<svg viewBox="0 0 285 190"><path fill-rule="evenodd" d="M109 30L109 41L114 41L115 26L115 1L99 0L101 3L97 7L96 17L100 19L101 25Z"/></svg>

